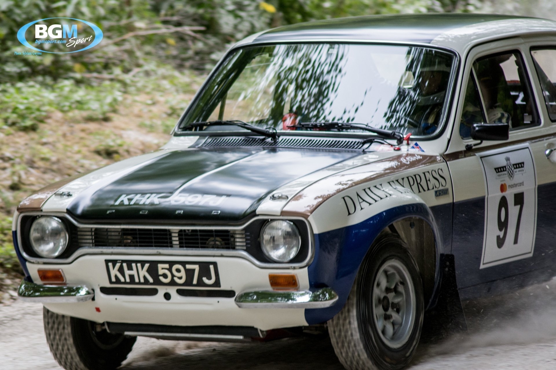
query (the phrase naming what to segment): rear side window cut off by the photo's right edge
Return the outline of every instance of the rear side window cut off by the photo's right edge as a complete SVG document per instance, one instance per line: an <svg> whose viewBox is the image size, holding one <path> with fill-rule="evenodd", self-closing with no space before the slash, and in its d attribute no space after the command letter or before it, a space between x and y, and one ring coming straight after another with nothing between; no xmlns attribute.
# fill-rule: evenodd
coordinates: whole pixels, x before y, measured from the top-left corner
<svg viewBox="0 0 556 370"><path fill-rule="evenodd" d="M556 121L556 48L531 50L550 120Z"/></svg>

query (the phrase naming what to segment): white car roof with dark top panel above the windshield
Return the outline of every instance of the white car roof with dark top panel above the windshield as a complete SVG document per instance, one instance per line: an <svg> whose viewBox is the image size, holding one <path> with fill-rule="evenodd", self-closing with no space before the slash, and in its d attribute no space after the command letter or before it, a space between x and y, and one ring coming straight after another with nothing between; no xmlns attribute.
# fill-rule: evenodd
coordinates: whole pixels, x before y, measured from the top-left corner
<svg viewBox="0 0 556 370"><path fill-rule="evenodd" d="M298 40L369 40L434 44L463 52L479 39L539 32L556 35L556 22L501 14L389 14L297 23L261 32L239 44Z"/></svg>

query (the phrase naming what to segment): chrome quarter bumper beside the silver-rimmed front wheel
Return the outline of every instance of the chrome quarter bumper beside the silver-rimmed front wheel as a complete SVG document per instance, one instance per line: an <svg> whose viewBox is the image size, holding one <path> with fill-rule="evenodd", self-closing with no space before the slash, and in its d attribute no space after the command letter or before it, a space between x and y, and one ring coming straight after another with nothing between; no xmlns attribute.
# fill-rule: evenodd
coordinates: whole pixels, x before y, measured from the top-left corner
<svg viewBox="0 0 556 370"><path fill-rule="evenodd" d="M240 308L326 308L334 305L338 295L331 288L311 291L254 291L236 297Z"/></svg>

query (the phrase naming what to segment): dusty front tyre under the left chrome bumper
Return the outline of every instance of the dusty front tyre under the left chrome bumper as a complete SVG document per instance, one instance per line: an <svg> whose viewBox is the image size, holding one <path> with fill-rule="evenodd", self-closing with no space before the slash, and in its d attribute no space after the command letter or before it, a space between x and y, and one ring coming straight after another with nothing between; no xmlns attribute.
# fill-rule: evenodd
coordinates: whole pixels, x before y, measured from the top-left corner
<svg viewBox="0 0 556 370"><path fill-rule="evenodd" d="M136 337L108 333L100 325L43 308L44 333L54 359L66 370L110 370L131 352Z"/></svg>

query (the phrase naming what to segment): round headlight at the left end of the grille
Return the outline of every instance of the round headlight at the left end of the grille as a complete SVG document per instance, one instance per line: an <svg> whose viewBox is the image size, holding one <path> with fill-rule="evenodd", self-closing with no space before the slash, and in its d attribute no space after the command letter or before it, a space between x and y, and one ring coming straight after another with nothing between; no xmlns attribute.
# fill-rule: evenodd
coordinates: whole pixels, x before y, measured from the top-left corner
<svg viewBox="0 0 556 370"><path fill-rule="evenodd" d="M31 246L44 258L58 257L68 245L68 232L58 217L42 216L36 219L29 232Z"/></svg>

